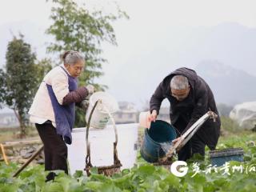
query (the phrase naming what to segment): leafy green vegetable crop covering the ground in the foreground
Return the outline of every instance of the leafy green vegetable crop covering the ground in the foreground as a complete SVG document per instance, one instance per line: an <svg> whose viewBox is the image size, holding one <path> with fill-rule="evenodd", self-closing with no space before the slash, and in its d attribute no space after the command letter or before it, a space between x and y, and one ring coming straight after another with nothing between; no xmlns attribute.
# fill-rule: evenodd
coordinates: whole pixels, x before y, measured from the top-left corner
<svg viewBox="0 0 256 192"><path fill-rule="evenodd" d="M188 172L177 177L161 166L146 163L138 155L138 163L130 170L106 177L92 170L90 177L78 170L70 176L57 172L54 182L45 182L43 166L28 167L18 178L12 178L18 165L0 167L1 192L29 191L256 191L256 134L242 131L222 136L218 149L242 147L244 162L229 162L217 169L210 166L208 152L206 158L194 157L188 162Z"/></svg>

